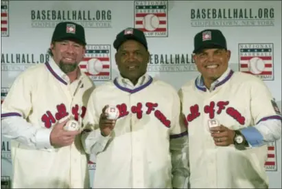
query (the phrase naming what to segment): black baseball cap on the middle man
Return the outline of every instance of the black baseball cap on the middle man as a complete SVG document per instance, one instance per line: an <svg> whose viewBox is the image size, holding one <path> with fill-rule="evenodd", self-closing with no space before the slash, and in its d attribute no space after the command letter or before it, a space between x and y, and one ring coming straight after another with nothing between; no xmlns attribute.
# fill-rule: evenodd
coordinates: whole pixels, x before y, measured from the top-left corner
<svg viewBox="0 0 282 189"><path fill-rule="evenodd" d="M148 44L147 44L145 34L141 30L138 30L132 27L128 27L125 30L122 30L121 32L119 32L119 34L117 34L117 37L115 38L115 41L114 41L115 49L119 49L120 45L128 41L129 39L138 41L139 43L144 45L146 49L148 49Z"/></svg>

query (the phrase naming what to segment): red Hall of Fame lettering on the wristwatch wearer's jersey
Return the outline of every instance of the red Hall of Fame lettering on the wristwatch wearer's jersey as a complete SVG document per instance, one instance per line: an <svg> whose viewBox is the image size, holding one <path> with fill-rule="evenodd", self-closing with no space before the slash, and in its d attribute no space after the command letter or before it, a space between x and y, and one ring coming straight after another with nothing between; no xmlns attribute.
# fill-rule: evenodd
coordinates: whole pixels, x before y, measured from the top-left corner
<svg viewBox="0 0 282 189"><path fill-rule="evenodd" d="M225 110L231 118L235 119L239 124L244 125L246 118L234 107L228 107L228 104L229 101L218 101L217 103L211 101L209 105L204 106L204 113L209 114L209 118L213 119L215 118L215 113L220 115ZM189 122L192 122L198 117L200 117L199 105L194 104L190 107L190 113L185 118L185 124L188 126Z"/></svg>

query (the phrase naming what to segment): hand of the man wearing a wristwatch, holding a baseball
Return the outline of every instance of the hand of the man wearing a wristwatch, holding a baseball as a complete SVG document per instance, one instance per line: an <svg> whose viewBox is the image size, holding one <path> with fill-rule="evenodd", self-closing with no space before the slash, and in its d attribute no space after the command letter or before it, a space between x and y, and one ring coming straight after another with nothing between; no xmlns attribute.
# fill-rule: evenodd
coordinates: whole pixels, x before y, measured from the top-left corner
<svg viewBox="0 0 282 189"><path fill-rule="evenodd" d="M216 146L229 146L234 144L235 131L226 126L214 126L209 129Z"/></svg>

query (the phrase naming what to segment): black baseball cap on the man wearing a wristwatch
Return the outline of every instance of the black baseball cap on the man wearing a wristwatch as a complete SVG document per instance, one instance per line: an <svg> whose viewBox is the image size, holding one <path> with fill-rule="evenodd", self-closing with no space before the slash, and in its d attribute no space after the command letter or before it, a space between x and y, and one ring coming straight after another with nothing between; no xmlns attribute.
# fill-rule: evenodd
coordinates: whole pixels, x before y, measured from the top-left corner
<svg viewBox="0 0 282 189"><path fill-rule="evenodd" d="M210 48L227 49L226 38L220 30L202 30L194 37L193 53Z"/></svg>

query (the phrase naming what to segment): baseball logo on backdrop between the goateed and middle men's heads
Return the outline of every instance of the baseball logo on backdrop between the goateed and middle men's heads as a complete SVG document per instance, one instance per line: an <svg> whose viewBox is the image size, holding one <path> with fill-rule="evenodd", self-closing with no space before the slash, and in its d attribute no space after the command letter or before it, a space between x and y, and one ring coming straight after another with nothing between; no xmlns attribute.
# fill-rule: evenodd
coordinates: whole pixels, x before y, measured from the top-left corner
<svg viewBox="0 0 282 189"><path fill-rule="evenodd" d="M86 45L80 69L93 81L111 79L110 45Z"/></svg>

